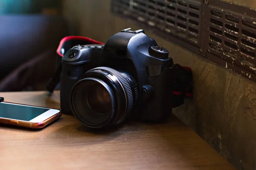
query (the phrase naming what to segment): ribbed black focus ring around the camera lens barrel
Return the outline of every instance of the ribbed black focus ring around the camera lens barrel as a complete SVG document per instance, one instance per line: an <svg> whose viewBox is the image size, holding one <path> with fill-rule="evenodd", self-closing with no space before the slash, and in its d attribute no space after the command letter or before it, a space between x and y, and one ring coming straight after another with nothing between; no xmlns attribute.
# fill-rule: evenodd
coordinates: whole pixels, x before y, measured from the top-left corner
<svg viewBox="0 0 256 170"><path fill-rule="evenodd" d="M93 68L89 71L93 71L93 70L103 70L103 71L107 71L113 75L115 75L119 81L121 82L125 92L126 92L126 98L127 98L127 110L126 112L130 112L132 107L133 107L133 96L132 96L132 91L131 91L131 87L128 83L128 81L125 79L125 77L119 73L118 71L114 70L113 68L109 68L109 67L97 67L97 68ZM87 72L89 72L87 71Z"/></svg>

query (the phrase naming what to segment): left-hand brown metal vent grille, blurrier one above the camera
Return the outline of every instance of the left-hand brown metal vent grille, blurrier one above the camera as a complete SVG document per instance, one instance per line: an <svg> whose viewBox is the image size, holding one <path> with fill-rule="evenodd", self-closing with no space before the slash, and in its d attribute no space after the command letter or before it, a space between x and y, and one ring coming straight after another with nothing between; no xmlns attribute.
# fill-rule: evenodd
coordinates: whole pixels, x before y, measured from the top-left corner
<svg viewBox="0 0 256 170"><path fill-rule="evenodd" d="M198 47L201 42L201 6L202 2L197 0L112 0L115 13Z"/></svg>

